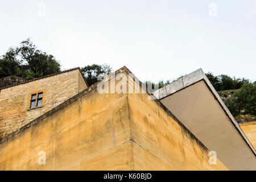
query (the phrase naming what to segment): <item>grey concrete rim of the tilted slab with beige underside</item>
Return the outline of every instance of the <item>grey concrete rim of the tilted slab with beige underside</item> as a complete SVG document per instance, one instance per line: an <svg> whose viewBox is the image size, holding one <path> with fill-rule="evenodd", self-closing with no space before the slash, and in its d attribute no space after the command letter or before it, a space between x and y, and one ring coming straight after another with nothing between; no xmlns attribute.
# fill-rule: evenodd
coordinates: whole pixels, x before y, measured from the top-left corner
<svg viewBox="0 0 256 182"><path fill-rule="evenodd" d="M246 137L245 133L243 133L241 127L238 125L236 119L234 119L233 115L230 113L228 107L224 104L220 96L218 95L217 91L214 89L213 85L208 80L207 76L203 72L203 70L197 69L196 71L189 73L188 75L185 75L170 84L155 90L153 92L154 96L158 98L158 100L162 100L163 98L170 96L171 94L174 94L178 92L179 90L182 90L190 85L195 84L198 81L204 80L205 84L207 84L210 92L212 92L214 98L218 101L226 115L228 116L229 120L232 122L233 126L236 127L238 134L241 135L243 140L246 142L247 146L250 148L251 151L253 151L254 155L256 156L256 151L249 139Z"/></svg>

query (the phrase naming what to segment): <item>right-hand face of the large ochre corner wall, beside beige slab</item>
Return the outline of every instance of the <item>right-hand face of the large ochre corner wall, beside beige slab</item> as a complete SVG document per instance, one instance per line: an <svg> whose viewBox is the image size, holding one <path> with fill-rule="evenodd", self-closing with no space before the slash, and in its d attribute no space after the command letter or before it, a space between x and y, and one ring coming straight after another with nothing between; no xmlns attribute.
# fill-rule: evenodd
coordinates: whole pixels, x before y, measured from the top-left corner
<svg viewBox="0 0 256 182"><path fill-rule="evenodd" d="M129 94L135 170L227 170L170 112L146 94Z"/></svg>

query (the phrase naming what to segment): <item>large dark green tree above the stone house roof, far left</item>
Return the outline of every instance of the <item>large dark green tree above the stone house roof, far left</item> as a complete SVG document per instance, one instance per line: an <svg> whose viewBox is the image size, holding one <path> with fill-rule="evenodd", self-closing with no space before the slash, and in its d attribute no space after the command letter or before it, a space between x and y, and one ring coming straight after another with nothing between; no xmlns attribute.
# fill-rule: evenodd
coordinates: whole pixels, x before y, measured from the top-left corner
<svg viewBox="0 0 256 182"><path fill-rule="evenodd" d="M60 64L55 57L37 49L30 39L21 42L18 47L9 48L0 58L0 78L34 78L60 72Z"/></svg>

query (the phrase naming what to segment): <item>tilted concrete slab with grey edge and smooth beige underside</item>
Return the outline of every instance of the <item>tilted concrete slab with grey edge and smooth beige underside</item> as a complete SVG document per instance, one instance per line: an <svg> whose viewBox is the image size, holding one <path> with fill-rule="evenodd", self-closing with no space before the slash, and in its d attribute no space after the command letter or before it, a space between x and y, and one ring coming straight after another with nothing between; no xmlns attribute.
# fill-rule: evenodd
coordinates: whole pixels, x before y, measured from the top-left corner
<svg viewBox="0 0 256 182"><path fill-rule="evenodd" d="M198 69L154 95L232 170L256 170L255 149L204 74Z"/></svg>

